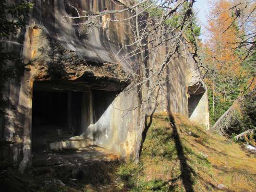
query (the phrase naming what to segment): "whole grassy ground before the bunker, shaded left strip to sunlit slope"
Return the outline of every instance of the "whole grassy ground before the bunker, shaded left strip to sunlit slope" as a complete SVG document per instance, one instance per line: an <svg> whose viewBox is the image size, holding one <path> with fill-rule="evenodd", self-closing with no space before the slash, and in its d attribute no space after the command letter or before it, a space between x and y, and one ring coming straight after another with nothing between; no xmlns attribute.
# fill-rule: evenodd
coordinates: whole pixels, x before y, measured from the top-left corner
<svg viewBox="0 0 256 192"><path fill-rule="evenodd" d="M205 132L182 116L175 115L175 125L171 126L166 114L155 115L137 165L97 163L85 167L83 178L75 181L62 173L53 176L32 170L32 175L20 176L6 171L1 172L0 181L31 192L256 191L255 155L247 154L239 144ZM53 177L66 186L45 186L44 180ZM218 184L224 184L224 189L219 190Z"/></svg>

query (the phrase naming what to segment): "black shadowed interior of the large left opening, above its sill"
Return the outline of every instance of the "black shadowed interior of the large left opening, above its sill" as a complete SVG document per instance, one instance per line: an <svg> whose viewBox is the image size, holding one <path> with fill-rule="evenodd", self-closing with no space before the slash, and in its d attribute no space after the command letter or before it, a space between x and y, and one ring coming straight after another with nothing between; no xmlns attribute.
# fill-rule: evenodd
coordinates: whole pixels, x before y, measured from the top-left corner
<svg viewBox="0 0 256 192"><path fill-rule="evenodd" d="M97 122L116 97L116 92L91 90L33 91L32 147L34 151L45 150L49 144L66 141L86 133ZM104 134L98 130L93 139ZM87 138L87 135L84 135Z"/></svg>

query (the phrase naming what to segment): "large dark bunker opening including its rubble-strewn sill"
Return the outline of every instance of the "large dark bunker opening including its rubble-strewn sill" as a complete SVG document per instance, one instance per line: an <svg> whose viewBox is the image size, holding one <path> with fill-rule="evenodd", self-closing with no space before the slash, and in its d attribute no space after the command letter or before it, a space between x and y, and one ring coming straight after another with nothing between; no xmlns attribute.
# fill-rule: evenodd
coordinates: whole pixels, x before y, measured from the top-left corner
<svg viewBox="0 0 256 192"><path fill-rule="evenodd" d="M95 138L87 135L86 129L100 119L116 95L116 91L90 89L72 81L35 81L32 99L33 165L45 163L52 150L78 150L95 158L99 154L111 154L107 149L100 149L98 153ZM67 154L77 157L76 153Z"/></svg>

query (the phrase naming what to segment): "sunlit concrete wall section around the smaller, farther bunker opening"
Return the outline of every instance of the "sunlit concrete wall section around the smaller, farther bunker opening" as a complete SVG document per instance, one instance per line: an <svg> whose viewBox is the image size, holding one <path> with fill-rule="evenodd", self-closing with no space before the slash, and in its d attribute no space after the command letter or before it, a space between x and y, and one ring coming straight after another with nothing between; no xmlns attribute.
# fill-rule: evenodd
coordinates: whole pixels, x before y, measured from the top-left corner
<svg viewBox="0 0 256 192"><path fill-rule="evenodd" d="M153 96L149 98L146 113L147 115L151 115L154 108L157 107L156 112L171 111L172 113L182 114L209 129L207 88L188 50L189 48L181 43L178 50L179 54L174 55L174 59L171 60L162 73L160 81L158 81L159 78L156 79L153 77L148 82L148 95L153 92L151 87L154 87L158 83L161 86L158 86L154 90ZM150 76L156 73L159 66L161 66L162 61L168 53L168 49L165 46L161 46L155 50L149 49L149 52L152 52L152 54L149 55L147 67L153 69L151 72L148 72ZM202 94L203 97L200 99ZM189 102L189 97L192 95L197 98L198 102L194 102L195 106L193 107L195 110L193 115L190 115L189 108L191 106L189 105L192 102Z"/></svg>

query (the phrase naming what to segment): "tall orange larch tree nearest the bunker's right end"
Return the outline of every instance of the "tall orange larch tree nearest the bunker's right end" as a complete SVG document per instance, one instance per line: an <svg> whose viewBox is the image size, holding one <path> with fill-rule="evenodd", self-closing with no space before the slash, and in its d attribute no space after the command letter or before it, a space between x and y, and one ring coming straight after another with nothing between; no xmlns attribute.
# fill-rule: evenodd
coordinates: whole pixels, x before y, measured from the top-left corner
<svg viewBox="0 0 256 192"><path fill-rule="evenodd" d="M205 62L213 69L208 75L210 112L212 123L223 114L237 98L246 76L240 65L237 34L240 30L233 22L234 12L229 0L209 2L211 11L207 19L209 38L205 43ZM217 105L215 105L215 102ZM218 105L219 104L219 105Z"/></svg>

